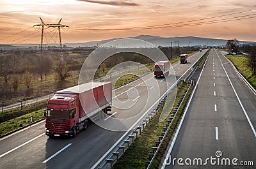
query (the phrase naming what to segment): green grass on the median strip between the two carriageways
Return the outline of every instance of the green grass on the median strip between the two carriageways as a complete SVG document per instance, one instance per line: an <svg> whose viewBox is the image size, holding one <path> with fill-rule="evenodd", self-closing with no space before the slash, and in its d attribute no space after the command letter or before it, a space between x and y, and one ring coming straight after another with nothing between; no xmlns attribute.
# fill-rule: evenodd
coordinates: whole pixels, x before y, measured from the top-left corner
<svg viewBox="0 0 256 169"><path fill-rule="evenodd" d="M177 89L177 98L175 99L175 104L180 100L181 95L184 92L184 89L186 88L188 84L185 82L181 82L178 89ZM189 89L190 94L192 90ZM189 96L186 96L185 102L188 100ZM173 125L170 128L168 135L166 137L166 140L163 142L161 149L159 149L159 153L156 156L156 160L153 163L152 168L158 168L159 161L161 161L161 158L163 156L163 153L168 145L168 142L170 141L170 138L172 136L173 130L175 129L175 126L177 122L179 121L179 117L182 114L182 109L186 105L186 103L183 103L180 111L177 113L177 117L173 121ZM148 153L152 152L152 147L156 147L156 141L158 141L158 136L161 134L161 131L163 131L163 128L165 127L165 124L167 123L168 118L166 118L163 122L159 122L159 117L161 115L161 110L152 121L148 124L148 126L145 128L145 130L141 133L141 135L134 140L131 147L127 149L125 152L125 155L122 156L122 158L119 159L118 163L116 163L113 168L145 168L145 160L148 160Z"/></svg>

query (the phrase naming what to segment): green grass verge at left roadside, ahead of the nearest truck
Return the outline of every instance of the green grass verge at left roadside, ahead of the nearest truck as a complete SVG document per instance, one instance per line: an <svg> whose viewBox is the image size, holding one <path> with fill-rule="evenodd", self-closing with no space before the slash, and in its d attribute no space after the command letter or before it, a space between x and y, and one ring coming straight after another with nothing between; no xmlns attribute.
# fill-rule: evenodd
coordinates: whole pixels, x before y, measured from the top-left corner
<svg viewBox="0 0 256 169"><path fill-rule="evenodd" d="M30 123L30 116L33 117L33 122L38 121L39 119L44 118L44 109L37 110L35 112L31 112L26 115L22 115L20 117L16 117L14 119L11 119L6 122L0 123L0 135L4 135L6 133L9 133L10 131L13 131L15 129L18 129L22 126L26 126Z"/></svg>

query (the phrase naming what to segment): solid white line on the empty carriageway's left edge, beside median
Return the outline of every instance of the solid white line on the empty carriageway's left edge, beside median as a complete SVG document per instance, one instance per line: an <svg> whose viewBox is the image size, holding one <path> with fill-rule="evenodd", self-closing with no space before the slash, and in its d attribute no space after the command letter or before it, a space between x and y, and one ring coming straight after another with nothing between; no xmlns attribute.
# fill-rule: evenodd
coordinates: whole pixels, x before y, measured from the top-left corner
<svg viewBox="0 0 256 169"><path fill-rule="evenodd" d="M208 57L207 57L207 59L206 59L206 61L205 61L205 64L206 64L207 60L208 60ZM201 76L202 76L202 73L203 73L203 71L204 71L205 64L204 64L204 67L202 68L202 71L201 71L201 73L200 73L200 76L198 77L198 83L199 83L199 80L200 80L200 78L201 78ZM175 133L175 136L173 137L173 141L172 141L172 144L171 144L171 146L170 146L170 149L168 150L168 152L167 152L167 154L166 154L166 157L168 157L168 158L170 157L170 154L172 153L173 146L174 146L175 141L176 141L176 139L177 139L177 136L178 136L178 134L179 134L179 131L180 131L182 122L184 121L184 118L185 118L185 116L186 116L186 114L187 114L187 112L188 112L189 105L190 105L191 100L192 100L192 98L193 98L193 96L194 96L194 93L195 93L195 90L196 90L196 87L197 87L198 83L196 83L196 86L195 86L195 88L193 89L193 91L192 91L192 93L191 93L191 97L189 98L188 105L187 105L187 107L186 107L186 109L185 109L185 112L184 112L184 114L183 114L183 116L182 116L182 119L181 119L181 121L180 121L179 127L178 127L178 129L177 129L177 131L176 131L176 133ZM165 166L166 166L166 163L163 163L163 166L161 167L161 169L164 169Z"/></svg>

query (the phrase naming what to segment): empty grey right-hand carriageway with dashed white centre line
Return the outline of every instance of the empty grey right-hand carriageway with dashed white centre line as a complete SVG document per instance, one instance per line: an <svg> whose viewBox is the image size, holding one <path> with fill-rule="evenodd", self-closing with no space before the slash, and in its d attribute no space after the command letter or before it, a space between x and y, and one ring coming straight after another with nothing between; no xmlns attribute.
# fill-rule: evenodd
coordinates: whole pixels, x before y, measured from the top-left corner
<svg viewBox="0 0 256 169"><path fill-rule="evenodd" d="M211 50L162 168L255 168L255 128L255 95L230 62Z"/></svg>

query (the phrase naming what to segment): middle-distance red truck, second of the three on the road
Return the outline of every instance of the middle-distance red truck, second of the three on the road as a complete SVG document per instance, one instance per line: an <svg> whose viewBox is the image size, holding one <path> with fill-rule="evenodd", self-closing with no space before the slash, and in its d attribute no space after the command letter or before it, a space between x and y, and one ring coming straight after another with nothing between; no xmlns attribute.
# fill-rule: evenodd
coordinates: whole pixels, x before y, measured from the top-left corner
<svg viewBox="0 0 256 169"><path fill-rule="evenodd" d="M155 68L154 68L154 76L157 77L165 77L166 75L169 75L170 70L170 62L169 61L159 61L156 62Z"/></svg>

